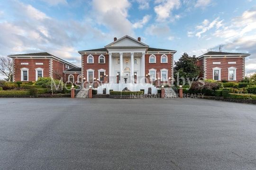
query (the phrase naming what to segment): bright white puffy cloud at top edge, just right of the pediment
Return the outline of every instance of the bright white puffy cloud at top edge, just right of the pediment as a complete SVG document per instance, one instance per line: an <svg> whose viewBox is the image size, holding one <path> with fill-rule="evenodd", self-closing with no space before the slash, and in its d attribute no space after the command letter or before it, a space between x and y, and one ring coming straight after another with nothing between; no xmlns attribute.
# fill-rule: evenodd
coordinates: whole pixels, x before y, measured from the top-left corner
<svg viewBox="0 0 256 170"><path fill-rule="evenodd" d="M173 17L173 10L180 8L180 0L155 0L155 3L158 4L154 8L156 21L165 22L166 20L175 20L175 17Z"/></svg>

